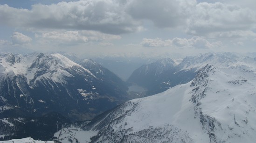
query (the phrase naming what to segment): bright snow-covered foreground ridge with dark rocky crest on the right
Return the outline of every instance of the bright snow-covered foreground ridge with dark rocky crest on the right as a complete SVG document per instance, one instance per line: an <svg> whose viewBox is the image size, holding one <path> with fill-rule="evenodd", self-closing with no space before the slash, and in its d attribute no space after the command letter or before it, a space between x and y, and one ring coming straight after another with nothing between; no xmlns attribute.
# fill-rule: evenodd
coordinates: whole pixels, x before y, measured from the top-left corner
<svg viewBox="0 0 256 143"><path fill-rule="evenodd" d="M187 84L125 102L55 136L62 143L255 143L255 119L256 73L206 65Z"/></svg>

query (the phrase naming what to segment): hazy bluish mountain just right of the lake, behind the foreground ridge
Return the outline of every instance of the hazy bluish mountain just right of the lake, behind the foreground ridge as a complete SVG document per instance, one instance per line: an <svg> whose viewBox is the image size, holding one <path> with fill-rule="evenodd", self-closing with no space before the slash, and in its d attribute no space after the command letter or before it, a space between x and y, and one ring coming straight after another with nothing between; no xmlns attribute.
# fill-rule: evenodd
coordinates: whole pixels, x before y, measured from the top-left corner
<svg viewBox="0 0 256 143"><path fill-rule="evenodd" d="M141 86L147 90L147 95L153 95L175 85L187 83L195 74L194 70L179 71L177 64L171 58L163 58L142 65L133 71L127 82Z"/></svg>

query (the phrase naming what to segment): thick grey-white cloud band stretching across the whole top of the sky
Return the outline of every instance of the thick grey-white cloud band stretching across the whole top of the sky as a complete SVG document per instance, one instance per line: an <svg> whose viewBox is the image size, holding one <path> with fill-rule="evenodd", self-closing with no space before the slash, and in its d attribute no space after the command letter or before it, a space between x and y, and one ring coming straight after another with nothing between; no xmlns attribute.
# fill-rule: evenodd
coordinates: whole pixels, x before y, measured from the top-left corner
<svg viewBox="0 0 256 143"><path fill-rule="evenodd" d="M36 4L31 10L0 5L0 24L32 30L92 30L118 35L142 31L143 20L150 20L160 28L187 27L187 33L197 36L250 31L256 26L252 9L221 2L80 0Z"/></svg>

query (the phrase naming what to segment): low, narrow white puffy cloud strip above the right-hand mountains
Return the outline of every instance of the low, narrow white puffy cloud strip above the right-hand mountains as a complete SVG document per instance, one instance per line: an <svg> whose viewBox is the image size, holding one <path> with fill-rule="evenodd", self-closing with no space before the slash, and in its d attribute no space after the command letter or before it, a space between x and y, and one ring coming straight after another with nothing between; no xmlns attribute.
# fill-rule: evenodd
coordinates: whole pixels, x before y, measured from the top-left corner
<svg viewBox="0 0 256 143"><path fill-rule="evenodd" d="M143 39L140 43L145 47L184 47L184 48L216 48L220 47L222 43L220 41L209 42L202 37L194 36L191 39L186 38L174 38L174 39Z"/></svg>

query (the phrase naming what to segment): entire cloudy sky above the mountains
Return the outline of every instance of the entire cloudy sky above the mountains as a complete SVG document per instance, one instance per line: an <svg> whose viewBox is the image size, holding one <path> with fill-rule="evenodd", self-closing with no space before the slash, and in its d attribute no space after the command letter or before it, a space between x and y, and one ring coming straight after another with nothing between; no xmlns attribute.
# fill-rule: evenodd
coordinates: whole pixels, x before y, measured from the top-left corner
<svg viewBox="0 0 256 143"><path fill-rule="evenodd" d="M256 52L256 0L0 0L0 52Z"/></svg>

